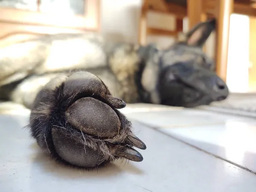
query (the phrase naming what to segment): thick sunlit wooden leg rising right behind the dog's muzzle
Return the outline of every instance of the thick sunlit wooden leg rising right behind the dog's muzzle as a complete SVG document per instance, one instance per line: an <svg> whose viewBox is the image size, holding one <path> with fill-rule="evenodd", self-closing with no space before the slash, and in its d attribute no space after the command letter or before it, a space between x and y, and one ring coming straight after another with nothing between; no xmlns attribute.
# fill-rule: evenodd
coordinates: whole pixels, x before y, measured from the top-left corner
<svg viewBox="0 0 256 192"><path fill-rule="evenodd" d="M227 80L227 54L229 43L230 15L233 12L234 0L217 0L216 6L216 73Z"/></svg>

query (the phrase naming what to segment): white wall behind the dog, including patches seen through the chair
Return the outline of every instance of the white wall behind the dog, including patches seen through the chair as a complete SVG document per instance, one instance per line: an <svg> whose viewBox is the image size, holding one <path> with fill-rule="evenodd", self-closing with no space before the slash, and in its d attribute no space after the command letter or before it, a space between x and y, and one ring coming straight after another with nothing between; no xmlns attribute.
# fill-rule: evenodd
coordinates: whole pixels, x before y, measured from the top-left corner
<svg viewBox="0 0 256 192"><path fill-rule="evenodd" d="M139 18L142 0L101 0L101 33L107 38L131 43L138 42ZM172 30L173 17L148 14L148 26ZM147 42L154 42L159 48L173 44L174 39L164 36L148 36Z"/></svg>

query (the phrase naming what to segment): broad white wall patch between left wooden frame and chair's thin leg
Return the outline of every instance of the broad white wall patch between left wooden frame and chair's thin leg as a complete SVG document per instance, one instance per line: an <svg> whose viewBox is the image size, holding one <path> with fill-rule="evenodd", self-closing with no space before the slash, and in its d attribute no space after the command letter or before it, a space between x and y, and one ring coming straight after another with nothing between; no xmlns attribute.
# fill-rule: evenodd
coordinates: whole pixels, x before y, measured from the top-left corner
<svg viewBox="0 0 256 192"><path fill-rule="evenodd" d="M101 0L102 35L137 43L142 0Z"/></svg>

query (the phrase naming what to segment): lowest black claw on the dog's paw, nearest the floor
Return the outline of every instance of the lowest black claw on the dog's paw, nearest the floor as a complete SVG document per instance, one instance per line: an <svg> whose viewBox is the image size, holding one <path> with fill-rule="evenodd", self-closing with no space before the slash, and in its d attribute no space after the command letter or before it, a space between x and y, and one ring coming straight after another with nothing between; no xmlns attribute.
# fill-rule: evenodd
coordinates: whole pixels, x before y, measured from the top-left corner
<svg viewBox="0 0 256 192"><path fill-rule="evenodd" d="M116 156L136 162L143 161L142 155L131 147L123 147L120 151L116 153Z"/></svg>

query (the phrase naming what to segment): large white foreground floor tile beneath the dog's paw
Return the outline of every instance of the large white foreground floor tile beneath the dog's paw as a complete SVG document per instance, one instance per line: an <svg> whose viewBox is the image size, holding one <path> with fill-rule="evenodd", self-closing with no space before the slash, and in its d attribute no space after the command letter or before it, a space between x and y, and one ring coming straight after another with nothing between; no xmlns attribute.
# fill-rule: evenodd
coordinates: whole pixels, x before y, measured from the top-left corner
<svg viewBox="0 0 256 192"><path fill-rule="evenodd" d="M147 145L140 163L98 172L57 166L29 137L26 116L0 116L1 192L255 192L256 175L133 122Z"/></svg>

